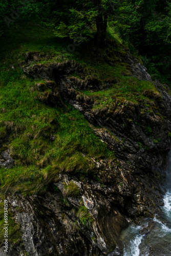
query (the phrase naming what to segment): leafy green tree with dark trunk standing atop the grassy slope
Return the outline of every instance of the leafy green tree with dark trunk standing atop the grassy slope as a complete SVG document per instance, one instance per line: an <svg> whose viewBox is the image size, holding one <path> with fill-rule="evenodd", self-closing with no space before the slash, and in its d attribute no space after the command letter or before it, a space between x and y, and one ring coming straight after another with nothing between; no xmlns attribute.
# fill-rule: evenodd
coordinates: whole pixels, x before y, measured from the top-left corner
<svg viewBox="0 0 171 256"><path fill-rule="evenodd" d="M111 1L115 2L115 1ZM111 3L102 0L81 0L79 2L60 2L54 10L52 26L59 37L70 37L76 42L88 41L94 36L105 39L108 17L112 17Z"/></svg>

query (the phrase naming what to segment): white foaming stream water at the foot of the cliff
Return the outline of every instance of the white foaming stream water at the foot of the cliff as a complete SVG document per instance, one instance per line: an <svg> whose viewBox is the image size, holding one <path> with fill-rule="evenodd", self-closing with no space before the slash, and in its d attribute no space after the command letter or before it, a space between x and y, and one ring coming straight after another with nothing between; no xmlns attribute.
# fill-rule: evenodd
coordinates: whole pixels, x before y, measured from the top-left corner
<svg viewBox="0 0 171 256"><path fill-rule="evenodd" d="M167 173L164 196L164 219L167 225L157 217L142 218L138 225L131 224L122 232L124 241L124 256L171 256L171 158ZM150 232L141 236L140 230L151 225Z"/></svg>

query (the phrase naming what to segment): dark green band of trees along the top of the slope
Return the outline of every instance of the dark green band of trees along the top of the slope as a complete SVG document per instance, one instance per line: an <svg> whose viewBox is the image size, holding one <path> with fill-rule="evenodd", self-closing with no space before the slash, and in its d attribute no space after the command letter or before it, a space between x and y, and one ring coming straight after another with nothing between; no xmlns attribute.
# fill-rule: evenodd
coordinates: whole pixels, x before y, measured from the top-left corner
<svg viewBox="0 0 171 256"><path fill-rule="evenodd" d="M16 20L38 20L54 34L76 42L95 38L103 44L112 28L130 48L144 56L149 70L171 79L170 0L4 0L0 4L0 36Z"/></svg>

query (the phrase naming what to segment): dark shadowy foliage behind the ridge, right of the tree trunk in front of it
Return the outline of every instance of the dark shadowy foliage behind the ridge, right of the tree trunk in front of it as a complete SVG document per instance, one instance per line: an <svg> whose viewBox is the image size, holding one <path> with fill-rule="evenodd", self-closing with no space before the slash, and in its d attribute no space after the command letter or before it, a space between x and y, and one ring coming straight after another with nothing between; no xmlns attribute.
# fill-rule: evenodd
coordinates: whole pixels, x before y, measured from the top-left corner
<svg viewBox="0 0 171 256"><path fill-rule="evenodd" d="M123 1L113 21L115 31L129 46L132 53L136 47L148 72L167 82L170 80L170 1ZM160 75L162 73L163 75Z"/></svg>

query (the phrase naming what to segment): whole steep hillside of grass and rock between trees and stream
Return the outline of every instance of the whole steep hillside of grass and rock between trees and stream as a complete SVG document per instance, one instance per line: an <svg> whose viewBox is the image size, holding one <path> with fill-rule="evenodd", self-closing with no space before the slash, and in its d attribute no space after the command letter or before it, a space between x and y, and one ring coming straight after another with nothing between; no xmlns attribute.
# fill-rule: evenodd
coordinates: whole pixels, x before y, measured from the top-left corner
<svg viewBox="0 0 171 256"><path fill-rule="evenodd" d="M170 89L115 37L71 53L47 29L13 33L0 75L7 255L122 255L122 229L161 215ZM6 255L3 224L2 208Z"/></svg>

